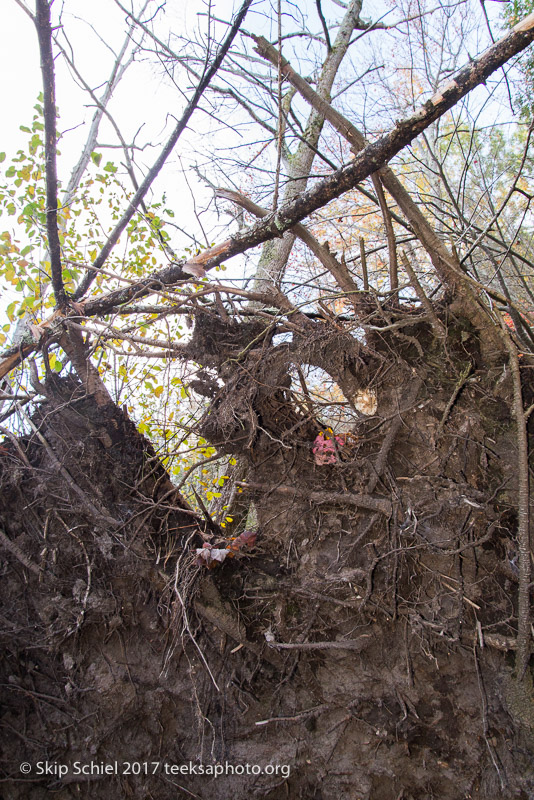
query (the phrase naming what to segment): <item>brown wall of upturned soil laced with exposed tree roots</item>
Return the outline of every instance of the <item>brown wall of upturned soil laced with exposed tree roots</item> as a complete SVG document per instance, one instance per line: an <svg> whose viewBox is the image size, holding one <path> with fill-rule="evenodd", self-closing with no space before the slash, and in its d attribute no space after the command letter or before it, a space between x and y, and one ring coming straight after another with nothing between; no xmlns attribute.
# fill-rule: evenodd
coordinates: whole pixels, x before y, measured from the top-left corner
<svg viewBox="0 0 534 800"><path fill-rule="evenodd" d="M150 445L76 382L2 443L5 796L526 800L508 377L450 354L437 375L409 343L317 464L297 354L254 333L205 364L225 389L202 430L247 459L258 533L219 568L195 565L209 534ZM382 361L354 348L336 364L361 386Z"/></svg>

